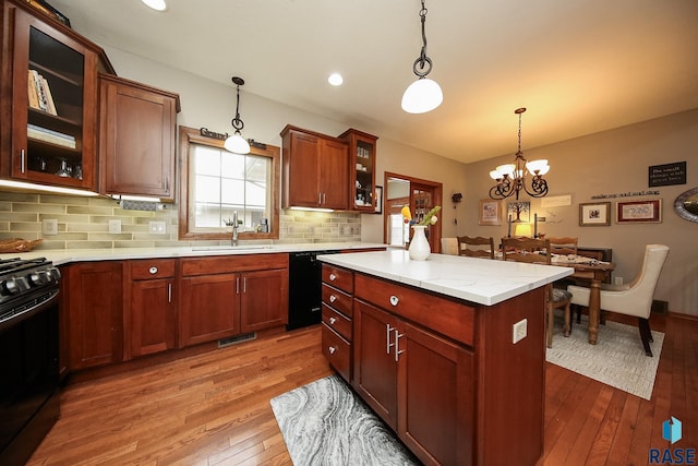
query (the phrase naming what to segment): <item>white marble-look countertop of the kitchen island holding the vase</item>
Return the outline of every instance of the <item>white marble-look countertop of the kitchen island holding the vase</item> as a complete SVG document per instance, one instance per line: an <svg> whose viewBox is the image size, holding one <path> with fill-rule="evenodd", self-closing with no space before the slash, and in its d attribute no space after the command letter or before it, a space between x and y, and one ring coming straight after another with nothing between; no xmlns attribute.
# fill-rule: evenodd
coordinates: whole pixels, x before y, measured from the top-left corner
<svg viewBox="0 0 698 466"><path fill-rule="evenodd" d="M574 273L574 268L431 254L412 261L406 250L320 255L329 264L445 296L493 306Z"/></svg>

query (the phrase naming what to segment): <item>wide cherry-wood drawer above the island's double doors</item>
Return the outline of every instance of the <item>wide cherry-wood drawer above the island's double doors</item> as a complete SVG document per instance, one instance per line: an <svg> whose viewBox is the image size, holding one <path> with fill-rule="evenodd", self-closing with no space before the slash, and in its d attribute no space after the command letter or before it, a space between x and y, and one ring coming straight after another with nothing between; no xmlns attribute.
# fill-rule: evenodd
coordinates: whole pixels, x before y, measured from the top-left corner
<svg viewBox="0 0 698 466"><path fill-rule="evenodd" d="M472 346L476 310L470 306L362 274L354 282L357 298Z"/></svg>

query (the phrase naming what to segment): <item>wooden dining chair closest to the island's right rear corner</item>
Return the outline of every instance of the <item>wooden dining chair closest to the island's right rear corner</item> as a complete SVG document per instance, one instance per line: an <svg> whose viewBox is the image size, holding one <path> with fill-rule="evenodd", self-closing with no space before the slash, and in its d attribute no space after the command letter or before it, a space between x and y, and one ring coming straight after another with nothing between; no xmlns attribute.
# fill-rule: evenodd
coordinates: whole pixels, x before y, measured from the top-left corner
<svg viewBox="0 0 698 466"><path fill-rule="evenodd" d="M502 260L529 262L533 264L551 265L551 246L549 239L537 238L502 238ZM569 336L571 292L566 289L554 288L552 284L545 286L546 327L545 344L553 347L554 310L563 309L565 318L564 335Z"/></svg>

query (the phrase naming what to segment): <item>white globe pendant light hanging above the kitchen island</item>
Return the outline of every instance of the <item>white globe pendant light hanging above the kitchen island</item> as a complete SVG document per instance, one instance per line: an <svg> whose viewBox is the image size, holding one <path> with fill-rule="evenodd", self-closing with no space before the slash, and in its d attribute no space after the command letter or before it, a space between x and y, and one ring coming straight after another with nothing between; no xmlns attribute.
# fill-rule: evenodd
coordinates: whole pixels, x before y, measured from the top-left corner
<svg viewBox="0 0 698 466"><path fill-rule="evenodd" d="M408 113L425 113L432 111L444 101L441 86L435 81L426 77L432 71L432 60L426 57L426 33L424 32L426 8L424 7L424 0L422 0L422 9L419 15L422 21L422 50L412 65L412 71L418 80L410 84L405 94L402 94L402 110Z"/></svg>

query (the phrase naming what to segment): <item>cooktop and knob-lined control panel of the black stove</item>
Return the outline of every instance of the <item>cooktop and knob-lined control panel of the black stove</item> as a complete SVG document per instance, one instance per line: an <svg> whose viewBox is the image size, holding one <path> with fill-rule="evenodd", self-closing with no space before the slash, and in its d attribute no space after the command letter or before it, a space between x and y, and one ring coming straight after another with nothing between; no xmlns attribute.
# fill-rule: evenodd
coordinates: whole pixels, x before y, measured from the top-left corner
<svg viewBox="0 0 698 466"><path fill-rule="evenodd" d="M0 325L58 295L60 278L46 258L0 260Z"/></svg>

